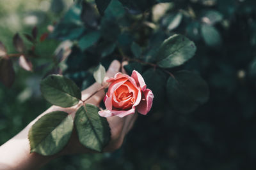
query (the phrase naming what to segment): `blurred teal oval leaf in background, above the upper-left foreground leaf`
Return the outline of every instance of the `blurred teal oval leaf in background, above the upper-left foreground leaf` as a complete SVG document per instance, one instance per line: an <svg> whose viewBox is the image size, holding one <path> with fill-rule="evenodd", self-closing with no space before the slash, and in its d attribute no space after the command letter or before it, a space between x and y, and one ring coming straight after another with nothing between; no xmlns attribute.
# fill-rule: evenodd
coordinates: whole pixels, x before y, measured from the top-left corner
<svg viewBox="0 0 256 170"><path fill-rule="evenodd" d="M95 44L100 38L99 31L92 31L85 34L78 42L79 47L81 50L86 50L88 47Z"/></svg>

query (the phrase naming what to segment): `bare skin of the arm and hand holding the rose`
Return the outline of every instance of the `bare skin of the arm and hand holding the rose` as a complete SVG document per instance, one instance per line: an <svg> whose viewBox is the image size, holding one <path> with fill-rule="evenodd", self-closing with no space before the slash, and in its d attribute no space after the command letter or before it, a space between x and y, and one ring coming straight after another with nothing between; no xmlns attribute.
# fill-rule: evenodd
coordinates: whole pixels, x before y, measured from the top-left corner
<svg viewBox="0 0 256 170"><path fill-rule="evenodd" d="M123 63L124 64L124 63ZM122 64L122 65L123 65ZM122 72L125 73L123 67L121 68L120 62L113 60L109 69L104 78L104 84L106 85L106 80L110 77L113 77L118 71L122 69ZM94 83L88 89L83 90L82 100L87 99L93 93L97 92L101 88L99 83ZM90 97L86 103L99 105L105 96L104 90L100 90L94 96ZM81 103L79 103L81 104ZM30 153L30 146L28 141L28 132L30 127L35 124L38 118L43 115L50 113L52 111L65 111L72 115L74 118L76 111L79 108L79 104L71 108L61 108L59 106L51 106L48 110L44 111L39 115L35 120L27 125L19 134L14 136L12 139L8 140L2 146L0 146L0 169L10 170L10 169L38 169L38 167L44 166L47 162L51 161L56 157L61 155L69 155L76 153L93 153L92 150L85 148L81 143L79 143L76 130L72 132L70 141L68 141L67 146L63 148L60 153L51 156L42 156L38 153ZM111 129L111 141L104 148L104 152L113 152L122 146L125 135L129 132L136 120L137 114L128 115L124 118L119 117L108 117L109 127Z"/></svg>

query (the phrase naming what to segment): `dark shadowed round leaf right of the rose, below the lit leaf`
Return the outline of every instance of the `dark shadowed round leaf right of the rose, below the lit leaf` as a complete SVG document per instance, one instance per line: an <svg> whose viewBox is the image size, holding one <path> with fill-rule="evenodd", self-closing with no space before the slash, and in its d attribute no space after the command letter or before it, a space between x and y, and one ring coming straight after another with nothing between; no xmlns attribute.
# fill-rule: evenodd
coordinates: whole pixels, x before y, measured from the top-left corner
<svg viewBox="0 0 256 170"><path fill-rule="evenodd" d="M179 71L170 76L166 89L172 108L179 113L190 113L209 97L207 83L195 73Z"/></svg>

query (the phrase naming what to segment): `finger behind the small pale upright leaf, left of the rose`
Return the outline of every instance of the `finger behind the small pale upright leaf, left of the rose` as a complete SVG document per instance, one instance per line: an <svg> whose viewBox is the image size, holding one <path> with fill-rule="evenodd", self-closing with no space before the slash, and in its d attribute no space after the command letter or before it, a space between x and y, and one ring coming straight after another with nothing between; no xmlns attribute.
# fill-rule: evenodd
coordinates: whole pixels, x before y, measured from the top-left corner
<svg viewBox="0 0 256 170"><path fill-rule="evenodd" d="M106 84L106 80L108 80L108 78L113 77L113 76L115 76L116 73L118 73L118 71L120 70L120 66L121 66L121 64L120 64L120 62L118 62L118 60L113 60L113 62L111 62L109 69L106 73L106 76L104 78L103 84ZM99 90L101 87L102 87L102 85L100 85L99 83L94 83L88 89L83 90L82 100L85 100L88 97L92 96L92 94L97 92L97 90ZM97 105L100 103L100 101L102 101L104 96L105 96L105 92L104 92L104 89L102 89L99 92L97 92L97 94L90 97L90 99L88 99L88 101L86 101L86 103L91 103L91 104Z"/></svg>

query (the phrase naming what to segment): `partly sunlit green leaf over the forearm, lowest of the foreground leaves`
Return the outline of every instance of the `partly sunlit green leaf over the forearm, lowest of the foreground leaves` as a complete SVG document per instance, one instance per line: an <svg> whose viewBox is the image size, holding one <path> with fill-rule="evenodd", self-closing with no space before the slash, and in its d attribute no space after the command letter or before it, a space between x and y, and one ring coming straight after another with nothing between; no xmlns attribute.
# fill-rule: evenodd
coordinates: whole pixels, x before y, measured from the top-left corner
<svg viewBox="0 0 256 170"><path fill-rule="evenodd" d="M73 130L73 119L63 111L53 111L39 118L29 129L30 152L54 155L67 145Z"/></svg>

